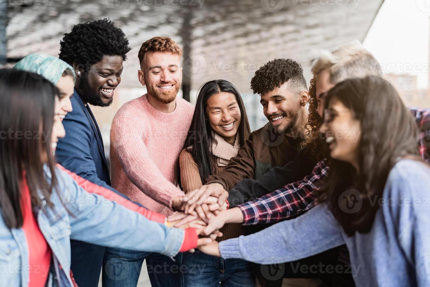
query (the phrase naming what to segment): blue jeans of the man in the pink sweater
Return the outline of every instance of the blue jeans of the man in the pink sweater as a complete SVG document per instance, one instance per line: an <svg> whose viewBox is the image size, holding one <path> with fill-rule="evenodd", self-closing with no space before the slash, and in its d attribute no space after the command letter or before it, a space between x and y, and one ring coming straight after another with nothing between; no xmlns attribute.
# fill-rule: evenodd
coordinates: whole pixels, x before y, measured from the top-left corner
<svg viewBox="0 0 430 287"><path fill-rule="evenodd" d="M173 261L160 253L118 248L108 248L104 254L103 287L136 286L144 259L152 287L182 287L182 253Z"/></svg>

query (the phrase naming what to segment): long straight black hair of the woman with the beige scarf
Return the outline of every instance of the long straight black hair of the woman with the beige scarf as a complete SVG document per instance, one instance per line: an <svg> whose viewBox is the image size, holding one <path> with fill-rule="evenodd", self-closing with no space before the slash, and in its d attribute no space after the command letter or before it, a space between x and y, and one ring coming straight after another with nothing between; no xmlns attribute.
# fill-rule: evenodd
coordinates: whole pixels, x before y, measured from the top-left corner
<svg viewBox="0 0 430 287"><path fill-rule="evenodd" d="M193 147L191 154L199 167L202 182L205 182L208 176L214 174L212 165L212 129L209 121L206 120L208 118L206 114L206 104L210 96L221 92L233 94L239 105L241 120L237 132L240 136L240 146L245 144L245 141L251 133L245 105L236 87L227 80L212 80L204 83L203 86L200 87L193 120L191 121L190 130L188 131L187 139L185 139L184 143L184 148Z"/></svg>

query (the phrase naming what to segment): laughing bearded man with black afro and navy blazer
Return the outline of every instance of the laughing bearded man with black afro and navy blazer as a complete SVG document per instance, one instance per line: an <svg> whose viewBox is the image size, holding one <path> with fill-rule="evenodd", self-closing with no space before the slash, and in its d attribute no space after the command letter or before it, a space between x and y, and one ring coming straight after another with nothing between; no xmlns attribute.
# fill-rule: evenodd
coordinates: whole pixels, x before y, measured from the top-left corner
<svg viewBox="0 0 430 287"><path fill-rule="evenodd" d="M66 136L59 140L55 157L66 169L117 193L111 187L101 133L89 104L111 105L130 49L124 32L108 19L74 25L60 41L60 59L74 68L77 77L71 98L73 111L64 117ZM71 241L71 270L78 286L98 285L107 250Z"/></svg>

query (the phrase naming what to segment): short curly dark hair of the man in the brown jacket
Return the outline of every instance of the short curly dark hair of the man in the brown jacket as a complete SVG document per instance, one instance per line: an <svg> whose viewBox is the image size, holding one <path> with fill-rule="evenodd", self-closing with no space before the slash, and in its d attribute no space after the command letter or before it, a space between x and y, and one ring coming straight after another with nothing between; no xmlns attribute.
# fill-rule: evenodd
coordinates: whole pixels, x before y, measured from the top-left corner
<svg viewBox="0 0 430 287"><path fill-rule="evenodd" d="M251 80L251 89L255 94L262 95L280 87L289 81L292 88L307 90L306 80L303 76L303 68L292 59L274 59L260 67Z"/></svg>

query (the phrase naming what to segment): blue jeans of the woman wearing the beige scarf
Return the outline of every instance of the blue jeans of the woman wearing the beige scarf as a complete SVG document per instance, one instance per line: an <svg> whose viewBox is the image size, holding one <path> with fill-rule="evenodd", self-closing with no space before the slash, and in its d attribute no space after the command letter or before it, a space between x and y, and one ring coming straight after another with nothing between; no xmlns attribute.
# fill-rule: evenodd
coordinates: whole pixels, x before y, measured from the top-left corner
<svg viewBox="0 0 430 287"><path fill-rule="evenodd" d="M184 253L184 287L253 287L251 263L242 259L223 259L200 250Z"/></svg>

